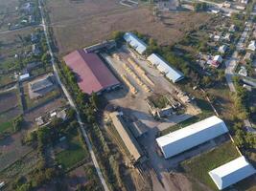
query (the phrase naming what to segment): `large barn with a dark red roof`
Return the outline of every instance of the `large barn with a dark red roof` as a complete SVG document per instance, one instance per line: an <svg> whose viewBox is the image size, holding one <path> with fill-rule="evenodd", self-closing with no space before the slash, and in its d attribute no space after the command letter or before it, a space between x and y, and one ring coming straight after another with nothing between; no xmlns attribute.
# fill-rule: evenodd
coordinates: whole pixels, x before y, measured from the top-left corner
<svg viewBox="0 0 256 191"><path fill-rule="evenodd" d="M101 94L120 85L96 53L85 53L79 50L67 54L63 59L66 65L77 74L77 81L83 93Z"/></svg>

